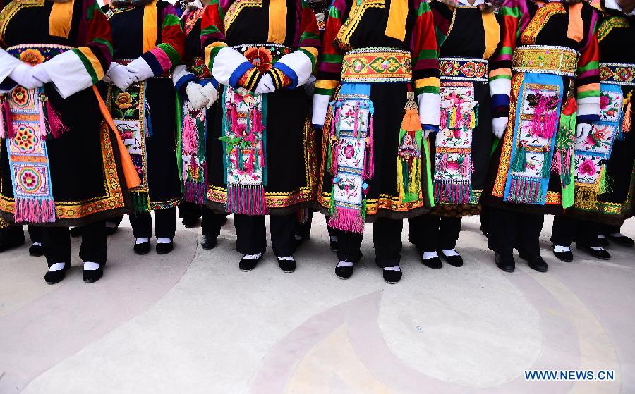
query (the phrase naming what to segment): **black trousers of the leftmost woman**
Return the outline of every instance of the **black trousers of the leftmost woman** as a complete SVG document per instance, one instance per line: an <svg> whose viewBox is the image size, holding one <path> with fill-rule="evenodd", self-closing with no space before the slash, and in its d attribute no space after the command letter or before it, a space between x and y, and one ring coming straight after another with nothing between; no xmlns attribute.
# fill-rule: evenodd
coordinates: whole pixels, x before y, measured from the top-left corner
<svg viewBox="0 0 635 394"><path fill-rule="evenodd" d="M68 227L42 227L42 248L47 263L71 262L71 233ZM106 263L106 222L96 221L82 226L82 246L80 258L82 261Z"/></svg>

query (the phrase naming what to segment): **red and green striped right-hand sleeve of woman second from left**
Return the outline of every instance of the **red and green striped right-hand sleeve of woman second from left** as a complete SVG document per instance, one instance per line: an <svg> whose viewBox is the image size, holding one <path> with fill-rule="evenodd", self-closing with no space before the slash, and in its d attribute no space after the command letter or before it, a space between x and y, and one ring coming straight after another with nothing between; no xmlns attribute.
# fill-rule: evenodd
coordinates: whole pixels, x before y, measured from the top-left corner
<svg viewBox="0 0 635 394"><path fill-rule="evenodd" d="M186 40L176 8L166 4L160 11L161 43L141 55L155 76L161 75L181 62Z"/></svg>

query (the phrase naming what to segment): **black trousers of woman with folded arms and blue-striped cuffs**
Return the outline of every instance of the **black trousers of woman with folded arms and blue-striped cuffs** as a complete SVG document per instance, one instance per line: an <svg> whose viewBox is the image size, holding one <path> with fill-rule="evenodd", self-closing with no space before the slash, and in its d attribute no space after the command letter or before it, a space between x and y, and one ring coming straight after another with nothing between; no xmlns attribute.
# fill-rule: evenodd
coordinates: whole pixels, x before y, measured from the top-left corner
<svg viewBox="0 0 635 394"><path fill-rule="evenodd" d="M271 245L277 257L294 254L294 229L296 214L269 216ZM236 250L242 254L258 254L267 250L267 228L265 215L234 215L236 227Z"/></svg>

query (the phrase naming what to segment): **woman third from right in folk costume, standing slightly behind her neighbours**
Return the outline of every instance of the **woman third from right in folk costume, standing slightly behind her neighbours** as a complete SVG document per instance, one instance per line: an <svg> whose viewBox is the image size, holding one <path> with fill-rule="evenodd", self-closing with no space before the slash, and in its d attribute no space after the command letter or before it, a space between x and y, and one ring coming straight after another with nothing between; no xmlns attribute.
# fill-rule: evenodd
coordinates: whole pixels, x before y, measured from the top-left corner
<svg viewBox="0 0 635 394"><path fill-rule="evenodd" d="M462 266L456 252L461 216L480 213L492 152L488 59L499 42L493 7L484 0L433 1L439 46L441 115L430 135L435 207L409 220L409 238L418 240L423 264L441 268L441 257Z"/></svg>

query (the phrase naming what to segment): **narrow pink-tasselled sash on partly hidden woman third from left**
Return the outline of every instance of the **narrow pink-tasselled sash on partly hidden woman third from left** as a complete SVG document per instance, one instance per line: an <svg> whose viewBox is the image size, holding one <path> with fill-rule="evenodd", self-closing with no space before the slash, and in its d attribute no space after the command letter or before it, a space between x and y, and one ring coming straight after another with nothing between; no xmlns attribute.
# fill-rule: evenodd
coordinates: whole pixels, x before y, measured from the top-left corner
<svg viewBox="0 0 635 394"><path fill-rule="evenodd" d="M187 202L205 205L207 195L207 161L205 138L207 135L207 109L193 109L190 101L183 102L181 128L181 171L183 194Z"/></svg>

